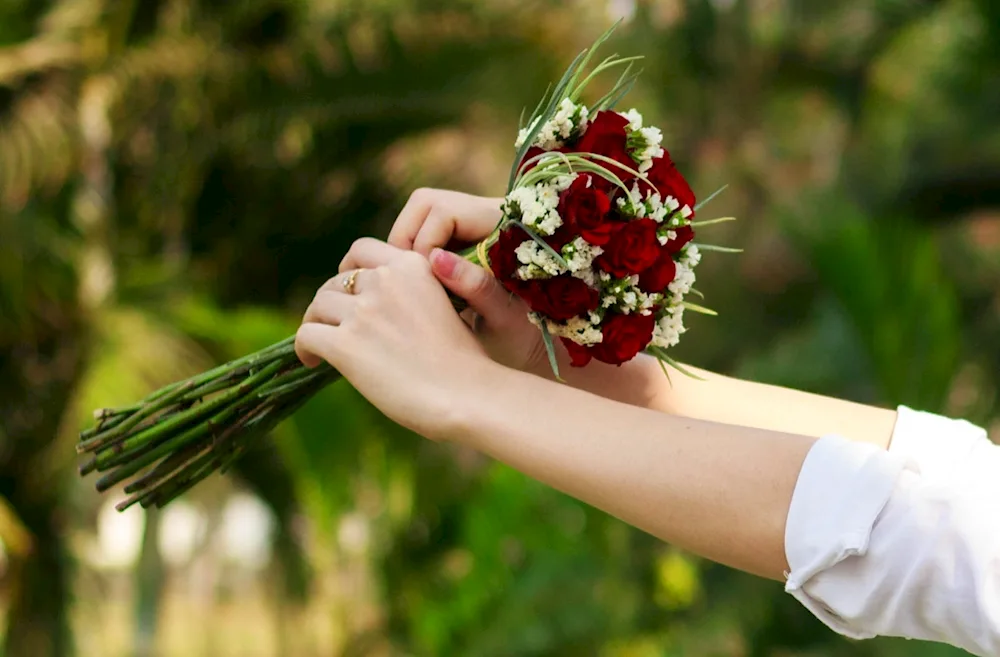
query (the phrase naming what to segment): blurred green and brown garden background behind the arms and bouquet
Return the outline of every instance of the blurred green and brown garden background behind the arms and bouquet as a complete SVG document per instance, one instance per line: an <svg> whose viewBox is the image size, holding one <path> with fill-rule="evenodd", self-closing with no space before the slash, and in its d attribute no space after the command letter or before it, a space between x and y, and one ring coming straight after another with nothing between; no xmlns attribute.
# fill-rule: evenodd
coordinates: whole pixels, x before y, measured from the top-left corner
<svg viewBox="0 0 1000 657"><path fill-rule="evenodd" d="M163 512L76 476L93 408L289 335L413 189L501 194L620 17L625 108L746 249L678 357L998 435L995 0L0 0L0 654L959 654L840 639L343 384Z"/></svg>

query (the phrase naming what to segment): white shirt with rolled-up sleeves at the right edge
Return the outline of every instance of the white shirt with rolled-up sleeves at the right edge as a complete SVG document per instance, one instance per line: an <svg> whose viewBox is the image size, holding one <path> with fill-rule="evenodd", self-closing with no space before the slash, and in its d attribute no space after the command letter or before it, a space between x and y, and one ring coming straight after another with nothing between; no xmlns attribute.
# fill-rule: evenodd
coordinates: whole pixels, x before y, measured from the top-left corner
<svg viewBox="0 0 1000 657"><path fill-rule="evenodd" d="M1000 447L900 407L888 452L816 442L785 528L785 590L849 637L1000 655Z"/></svg>

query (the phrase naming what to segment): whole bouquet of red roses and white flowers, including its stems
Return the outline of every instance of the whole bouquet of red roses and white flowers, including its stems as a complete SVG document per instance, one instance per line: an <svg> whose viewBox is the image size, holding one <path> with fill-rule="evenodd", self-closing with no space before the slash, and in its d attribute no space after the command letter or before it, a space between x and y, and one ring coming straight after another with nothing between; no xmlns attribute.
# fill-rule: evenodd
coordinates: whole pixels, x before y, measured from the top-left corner
<svg viewBox="0 0 1000 657"><path fill-rule="evenodd" d="M575 367L593 359L620 365L647 352L664 373L666 365L684 372L667 349L685 331L685 309L714 314L686 299L697 293L701 252L736 251L693 242L696 227L730 218L696 223L699 206L661 131L634 109L614 109L635 83L640 58L612 55L587 73L613 29L580 53L522 120L502 220L462 252L526 302L557 378L556 337ZM612 69L621 71L617 82L584 105L583 91ZM96 425L77 445L90 455L80 473L104 473L99 491L129 480L119 510L162 507L225 470L339 378L331 367L303 366L288 338L132 406L96 411Z"/></svg>

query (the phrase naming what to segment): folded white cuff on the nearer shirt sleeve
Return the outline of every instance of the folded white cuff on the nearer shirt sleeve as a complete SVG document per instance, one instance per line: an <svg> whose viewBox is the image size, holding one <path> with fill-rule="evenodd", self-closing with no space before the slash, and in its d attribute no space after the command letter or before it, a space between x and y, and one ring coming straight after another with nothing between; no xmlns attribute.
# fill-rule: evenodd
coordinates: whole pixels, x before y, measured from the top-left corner
<svg viewBox="0 0 1000 657"><path fill-rule="evenodd" d="M799 472L785 525L785 591L839 634L867 639L804 589L815 575L868 549L872 527L906 466L896 455L840 436L820 438Z"/></svg>

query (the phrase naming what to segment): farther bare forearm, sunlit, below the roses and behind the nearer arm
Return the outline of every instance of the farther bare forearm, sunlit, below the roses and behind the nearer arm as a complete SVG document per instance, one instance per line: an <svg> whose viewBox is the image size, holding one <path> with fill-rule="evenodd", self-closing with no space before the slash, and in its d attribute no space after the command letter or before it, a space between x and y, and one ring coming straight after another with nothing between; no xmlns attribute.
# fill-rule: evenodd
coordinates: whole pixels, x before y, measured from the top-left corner
<svg viewBox="0 0 1000 657"><path fill-rule="evenodd" d="M883 449L889 445L896 412L752 381L721 376L686 366L702 381L677 371L664 376L659 363L640 354L621 367L591 363L569 367L561 358L561 374L574 388L608 399L682 415L819 438L836 433Z"/></svg>

